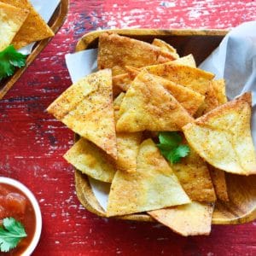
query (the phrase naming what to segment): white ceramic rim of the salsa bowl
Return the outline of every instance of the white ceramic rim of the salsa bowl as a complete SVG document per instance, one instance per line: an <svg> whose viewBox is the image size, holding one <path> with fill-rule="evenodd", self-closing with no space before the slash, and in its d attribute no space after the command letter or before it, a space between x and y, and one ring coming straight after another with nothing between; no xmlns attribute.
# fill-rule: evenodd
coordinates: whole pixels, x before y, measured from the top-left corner
<svg viewBox="0 0 256 256"><path fill-rule="evenodd" d="M32 194L32 192L26 188L25 185L23 185L22 183L20 183L19 181L13 178L0 177L0 183L8 184L8 185L14 186L17 189L20 189L20 191L22 191L26 195L26 197L29 199L29 201L31 201L32 203L32 207L34 208L34 211L36 214L36 230L30 245L26 248L26 251L22 253L22 256L30 256L32 255L32 252L38 245L38 241L40 239L41 231L42 231L42 214L40 211L40 207L38 205L38 201L35 198L35 196Z"/></svg>

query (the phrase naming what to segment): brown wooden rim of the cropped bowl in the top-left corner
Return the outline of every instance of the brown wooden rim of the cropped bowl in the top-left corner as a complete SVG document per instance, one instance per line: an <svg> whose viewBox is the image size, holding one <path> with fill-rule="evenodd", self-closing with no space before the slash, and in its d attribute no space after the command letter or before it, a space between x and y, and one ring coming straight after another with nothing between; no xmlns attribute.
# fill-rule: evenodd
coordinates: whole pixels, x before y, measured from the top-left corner
<svg viewBox="0 0 256 256"><path fill-rule="evenodd" d="M53 32L55 32L55 34L59 31L64 21L66 20L68 12L68 3L69 0L61 0L60 5L57 7L57 9L55 9L54 15L52 15L51 19L48 22L50 28ZM44 40L39 41L33 47L32 53L28 55L28 57L26 58L26 66L17 69L14 75L11 76L9 79L4 80L3 83L0 82L0 100L12 88L15 82L18 79L20 79L21 74L25 72L26 68L29 67L32 61L36 59L36 57L44 49L44 47L47 44L49 44L49 41L51 39L52 38L46 38Z"/></svg>

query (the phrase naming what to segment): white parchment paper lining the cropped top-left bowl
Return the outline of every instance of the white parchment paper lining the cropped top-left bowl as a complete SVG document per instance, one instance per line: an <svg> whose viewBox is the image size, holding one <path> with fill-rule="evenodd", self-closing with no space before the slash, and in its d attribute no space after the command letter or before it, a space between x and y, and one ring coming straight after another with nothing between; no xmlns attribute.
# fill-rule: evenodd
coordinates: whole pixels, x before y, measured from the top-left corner
<svg viewBox="0 0 256 256"><path fill-rule="evenodd" d="M31 0L30 3L32 3L32 6L34 9L38 11L38 14L42 16L44 21L48 23L50 20L51 16L54 14L55 9L58 7L60 4L61 0L48 0L48 1L43 1L43 0ZM36 44L28 44L25 47L19 49L19 52L21 52L24 55L29 55L32 52L33 46Z"/></svg>

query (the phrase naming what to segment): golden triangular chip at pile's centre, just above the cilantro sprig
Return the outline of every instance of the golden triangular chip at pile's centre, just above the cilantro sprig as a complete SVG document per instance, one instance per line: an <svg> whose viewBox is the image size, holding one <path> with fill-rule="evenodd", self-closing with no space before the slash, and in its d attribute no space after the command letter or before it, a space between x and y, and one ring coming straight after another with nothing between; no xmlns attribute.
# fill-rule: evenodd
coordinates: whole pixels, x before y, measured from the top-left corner
<svg viewBox="0 0 256 256"><path fill-rule="evenodd" d="M139 73L119 110L117 131L180 131L194 119L149 73Z"/></svg>

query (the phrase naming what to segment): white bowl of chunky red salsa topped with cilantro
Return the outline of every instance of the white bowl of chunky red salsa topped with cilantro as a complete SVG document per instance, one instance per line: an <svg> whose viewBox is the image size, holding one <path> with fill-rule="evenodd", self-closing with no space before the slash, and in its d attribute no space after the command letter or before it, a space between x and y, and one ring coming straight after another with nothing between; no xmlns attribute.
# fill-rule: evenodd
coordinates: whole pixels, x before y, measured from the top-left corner
<svg viewBox="0 0 256 256"><path fill-rule="evenodd" d="M0 255L31 255L41 236L42 215L32 192L0 177Z"/></svg>

